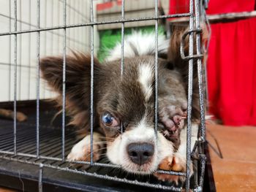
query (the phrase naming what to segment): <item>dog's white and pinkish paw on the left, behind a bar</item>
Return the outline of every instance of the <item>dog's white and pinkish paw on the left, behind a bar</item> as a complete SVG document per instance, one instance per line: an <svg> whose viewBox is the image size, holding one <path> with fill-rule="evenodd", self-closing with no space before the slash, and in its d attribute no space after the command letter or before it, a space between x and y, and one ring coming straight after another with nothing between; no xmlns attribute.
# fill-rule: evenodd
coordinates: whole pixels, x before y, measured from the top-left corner
<svg viewBox="0 0 256 192"><path fill-rule="evenodd" d="M98 161L104 147L101 135L94 133L93 161ZM69 161L91 161L91 136L84 137L67 155Z"/></svg>

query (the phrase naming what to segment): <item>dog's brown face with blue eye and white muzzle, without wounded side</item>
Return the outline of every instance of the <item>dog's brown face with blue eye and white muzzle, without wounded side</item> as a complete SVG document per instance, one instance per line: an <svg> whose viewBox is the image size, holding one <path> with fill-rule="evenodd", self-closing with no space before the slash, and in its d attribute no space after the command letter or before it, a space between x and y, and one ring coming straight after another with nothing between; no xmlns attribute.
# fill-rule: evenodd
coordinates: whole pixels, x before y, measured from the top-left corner
<svg viewBox="0 0 256 192"><path fill-rule="evenodd" d="M173 143L154 130L154 57L125 59L124 64L122 77L120 61L102 67L108 80L102 82L104 91L97 104L99 126L113 164L128 172L151 173L173 154Z"/></svg>

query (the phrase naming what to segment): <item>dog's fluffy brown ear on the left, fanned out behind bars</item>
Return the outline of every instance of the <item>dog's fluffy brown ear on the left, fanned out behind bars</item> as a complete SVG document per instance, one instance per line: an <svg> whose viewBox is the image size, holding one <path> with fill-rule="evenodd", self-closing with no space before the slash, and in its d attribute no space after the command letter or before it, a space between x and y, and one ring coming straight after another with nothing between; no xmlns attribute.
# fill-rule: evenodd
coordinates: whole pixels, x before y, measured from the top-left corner
<svg viewBox="0 0 256 192"><path fill-rule="evenodd" d="M99 61L94 59L94 89L97 87ZM42 78L59 93L56 101L62 105L63 57L46 57L40 61ZM89 122L91 94L91 57L73 53L66 58L66 109L72 117L70 124L86 128Z"/></svg>

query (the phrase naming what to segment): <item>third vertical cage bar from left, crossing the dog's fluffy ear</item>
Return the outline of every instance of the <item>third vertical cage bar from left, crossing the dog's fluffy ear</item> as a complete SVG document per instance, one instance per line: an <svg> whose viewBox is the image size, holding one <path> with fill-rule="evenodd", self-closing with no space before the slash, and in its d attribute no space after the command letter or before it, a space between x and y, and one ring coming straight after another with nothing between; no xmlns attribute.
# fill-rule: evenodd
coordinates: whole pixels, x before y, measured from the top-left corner
<svg viewBox="0 0 256 192"><path fill-rule="evenodd" d="M67 26L67 0L64 0L63 10L64 26ZM67 56L67 31L63 28L63 77L62 77L62 160L65 160L65 115L66 115L66 56Z"/></svg>

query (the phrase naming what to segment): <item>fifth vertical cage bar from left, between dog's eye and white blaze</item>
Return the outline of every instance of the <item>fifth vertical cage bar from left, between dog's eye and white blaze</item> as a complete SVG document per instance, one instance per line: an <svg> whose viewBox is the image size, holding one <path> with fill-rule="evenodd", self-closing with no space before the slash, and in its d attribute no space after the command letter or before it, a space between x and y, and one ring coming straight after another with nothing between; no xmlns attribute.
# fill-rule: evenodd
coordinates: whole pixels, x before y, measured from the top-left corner
<svg viewBox="0 0 256 192"><path fill-rule="evenodd" d="M121 1L121 20L124 21L124 0ZM124 73L124 22L121 23L121 79ZM123 123L121 122L121 134L123 134L124 127Z"/></svg>

